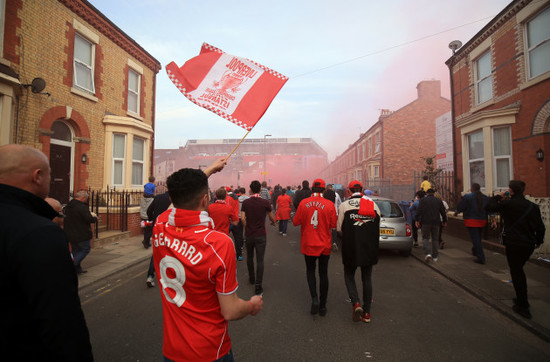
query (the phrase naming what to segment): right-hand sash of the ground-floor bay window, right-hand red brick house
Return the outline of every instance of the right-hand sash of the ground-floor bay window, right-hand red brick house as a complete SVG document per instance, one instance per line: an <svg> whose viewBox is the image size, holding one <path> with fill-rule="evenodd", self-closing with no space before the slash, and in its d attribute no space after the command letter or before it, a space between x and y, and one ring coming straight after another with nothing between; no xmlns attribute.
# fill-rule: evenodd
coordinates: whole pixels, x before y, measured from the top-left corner
<svg viewBox="0 0 550 362"><path fill-rule="evenodd" d="M512 139L510 127L493 128L495 185L507 188L512 178Z"/></svg>

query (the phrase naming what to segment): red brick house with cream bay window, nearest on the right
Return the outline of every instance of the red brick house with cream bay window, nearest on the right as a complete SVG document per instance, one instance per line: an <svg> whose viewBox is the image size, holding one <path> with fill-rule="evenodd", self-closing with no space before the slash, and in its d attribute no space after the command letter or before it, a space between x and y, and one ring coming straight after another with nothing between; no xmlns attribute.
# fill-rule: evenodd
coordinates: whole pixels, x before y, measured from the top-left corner
<svg viewBox="0 0 550 362"><path fill-rule="evenodd" d="M513 1L446 62L457 189L469 192L476 182L491 195L521 179L547 227L549 29L550 1Z"/></svg>

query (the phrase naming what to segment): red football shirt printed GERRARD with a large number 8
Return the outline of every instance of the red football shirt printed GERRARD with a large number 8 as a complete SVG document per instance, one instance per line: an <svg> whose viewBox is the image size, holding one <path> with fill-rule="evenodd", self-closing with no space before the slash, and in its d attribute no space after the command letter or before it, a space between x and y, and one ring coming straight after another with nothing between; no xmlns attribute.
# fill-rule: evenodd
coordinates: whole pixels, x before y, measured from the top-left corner
<svg viewBox="0 0 550 362"><path fill-rule="evenodd" d="M163 354L174 361L214 361L231 349L218 294L238 288L235 247L211 225L204 211L173 208L153 228Z"/></svg>

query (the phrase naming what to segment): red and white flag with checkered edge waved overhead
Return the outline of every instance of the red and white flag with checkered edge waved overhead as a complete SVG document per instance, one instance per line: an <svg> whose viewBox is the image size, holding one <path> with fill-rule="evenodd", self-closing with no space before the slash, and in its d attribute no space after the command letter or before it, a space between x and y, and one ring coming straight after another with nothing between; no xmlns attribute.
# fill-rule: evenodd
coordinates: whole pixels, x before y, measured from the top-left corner
<svg viewBox="0 0 550 362"><path fill-rule="evenodd" d="M170 80L191 102L250 131L288 77L204 43L181 67L166 66Z"/></svg>

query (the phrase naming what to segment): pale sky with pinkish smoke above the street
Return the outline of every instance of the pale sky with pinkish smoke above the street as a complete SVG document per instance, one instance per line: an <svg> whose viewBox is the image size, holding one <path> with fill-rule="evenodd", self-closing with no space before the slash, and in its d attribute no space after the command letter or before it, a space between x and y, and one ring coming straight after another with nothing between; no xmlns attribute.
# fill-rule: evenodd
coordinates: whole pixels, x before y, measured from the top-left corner
<svg viewBox="0 0 550 362"><path fill-rule="evenodd" d="M332 161L378 121L440 80L450 99L448 44L466 43L509 0L89 0L162 65L155 148L246 131L185 98L164 67L203 42L289 77L248 138L311 137Z"/></svg>

